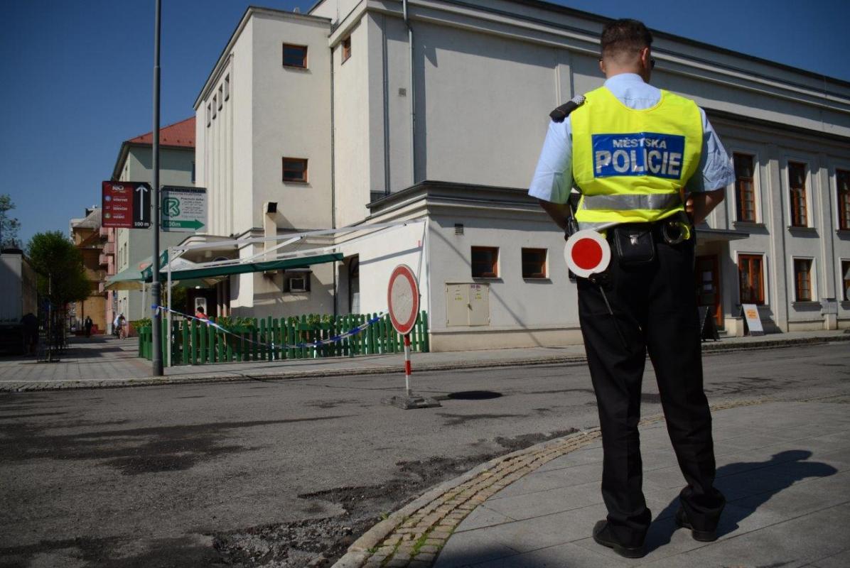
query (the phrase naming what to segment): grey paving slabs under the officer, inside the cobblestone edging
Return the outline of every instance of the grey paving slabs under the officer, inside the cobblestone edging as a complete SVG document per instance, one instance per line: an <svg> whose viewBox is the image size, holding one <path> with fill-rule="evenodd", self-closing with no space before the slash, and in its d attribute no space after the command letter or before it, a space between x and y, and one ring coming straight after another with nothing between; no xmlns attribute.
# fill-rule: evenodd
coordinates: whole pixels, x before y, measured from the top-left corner
<svg viewBox="0 0 850 568"><path fill-rule="evenodd" d="M717 458L717 486L728 505L714 543L695 541L675 525L683 477L675 458L655 467L664 459L662 442L669 445L663 423L655 423L641 428L642 446L655 448L644 456L654 520L643 559L625 560L590 537L605 516L602 453L582 447L487 498L456 527L433 565L848 566L850 425L840 419L848 410L830 402L716 410L715 424L737 442L720 445L726 453Z"/></svg>

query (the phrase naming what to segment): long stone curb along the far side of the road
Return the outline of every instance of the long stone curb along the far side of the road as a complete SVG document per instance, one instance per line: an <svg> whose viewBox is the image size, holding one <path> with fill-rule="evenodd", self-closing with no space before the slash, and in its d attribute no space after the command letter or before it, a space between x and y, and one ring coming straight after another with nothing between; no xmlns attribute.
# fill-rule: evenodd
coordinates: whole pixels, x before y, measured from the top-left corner
<svg viewBox="0 0 850 568"><path fill-rule="evenodd" d="M850 334L831 335L829 337L807 337L790 340L760 340L748 343L728 344L712 342L702 344L703 352L744 351L749 349L778 349L781 347L795 345L814 345L830 343L835 341L850 341ZM537 357L526 359L506 359L502 361L467 361L463 363L425 363L416 366L418 373L426 371L450 371L465 368L498 368L498 367L520 367L525 365L581 365L587 362L584 356L558 356ZM156 377L142 379L109 380L109 381L82 381L66 380L56 382L44 381L21 381L20 383L0 383L0 392L25 392L25 391L59 391L69 389L98 389L98 388L125 388L128 386L161 386L161 385L201 385L207 383L243 382L249 380L286 380L286 379L314 379L320 377L339 377L368 374L396 374L399 368L390 367L365 367L365 368L336 368L312 371L289 371L284 373L270 374L242 374L225 373L209 374L195 377Z"/></svg>

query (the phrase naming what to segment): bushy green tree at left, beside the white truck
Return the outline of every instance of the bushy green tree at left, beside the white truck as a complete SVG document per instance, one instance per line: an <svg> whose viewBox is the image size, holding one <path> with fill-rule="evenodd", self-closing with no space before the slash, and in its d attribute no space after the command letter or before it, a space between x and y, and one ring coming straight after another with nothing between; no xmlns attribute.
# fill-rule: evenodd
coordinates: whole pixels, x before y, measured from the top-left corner
<svg viewBox="0 0 850 568"><path fill-rule="evenodd" d="M60 231L33 235L26 254L38 273L38 293L54 306L83 301L91 294L92 283L82 266L82 254Z"/></svg>

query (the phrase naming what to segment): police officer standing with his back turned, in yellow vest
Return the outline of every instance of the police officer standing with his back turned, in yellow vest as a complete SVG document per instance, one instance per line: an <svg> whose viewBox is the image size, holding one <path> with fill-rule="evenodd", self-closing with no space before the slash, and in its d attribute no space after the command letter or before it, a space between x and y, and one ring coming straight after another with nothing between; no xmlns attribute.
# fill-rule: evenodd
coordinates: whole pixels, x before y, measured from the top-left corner
<svg viewBox="0 0 850 568"><path fill-rule="evenodd" d="M640 558L652 518L643 498L638 438L647 352L687 484L677 524L698 540L717 538L725 499L714 487L691 222L702 222L723 200L734 171L705 112L649 85L655 59L645 25L611 21L601 45L604 87L553 111L529 194L566 230L575 183L579 227L604 230L611 244L608 270L577 282L608 509L593 537L618 554Z"/></svg>

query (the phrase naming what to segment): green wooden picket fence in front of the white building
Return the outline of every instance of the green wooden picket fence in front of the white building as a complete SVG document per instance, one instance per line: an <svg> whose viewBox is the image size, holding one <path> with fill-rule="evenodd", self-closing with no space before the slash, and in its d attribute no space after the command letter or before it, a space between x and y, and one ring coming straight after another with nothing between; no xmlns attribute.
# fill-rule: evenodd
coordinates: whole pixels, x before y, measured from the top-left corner
<svg viewBox="0 0 850 568"><path fill-rule="evenodd" d="M204 365L241 361L277 361L314 357L354 357L375 353L405 351L404 338L386 315L355 335L343 337L327 345L295 347L297 344L328 340L354 329L373 314L350 314L331 318L329 322L309 323L320 318L259 318L252 324L237 325L224 333L212 325L195 319L172 322L173 365ZM150 325L139 328L139 357L153 357L153 334ZM162 318L162 353L167 352L167 322ZM289 346L286 348L286 346ZM428 314L416 318L411 331L411 350L428 352Z"/></svg>

